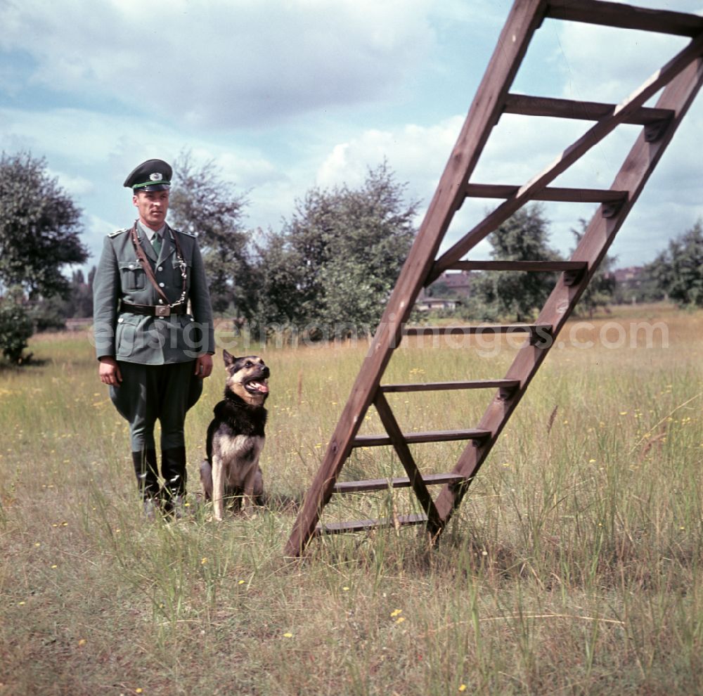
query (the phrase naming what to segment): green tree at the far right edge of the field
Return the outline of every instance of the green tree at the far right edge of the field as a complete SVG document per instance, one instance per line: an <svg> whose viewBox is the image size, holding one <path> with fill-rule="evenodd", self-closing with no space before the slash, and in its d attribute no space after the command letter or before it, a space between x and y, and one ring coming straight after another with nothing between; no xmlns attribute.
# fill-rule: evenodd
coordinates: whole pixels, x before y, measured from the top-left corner
<svg viewBox="0 0 703 696"><path fill-rule="evenodd" d="M703 221L672 239L645 272L675 302L703 307Z"/></svg>

